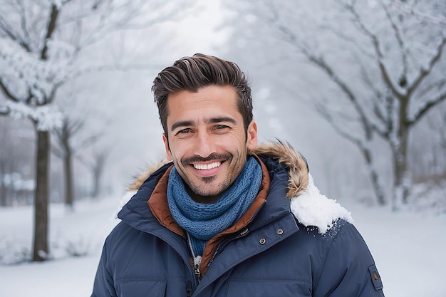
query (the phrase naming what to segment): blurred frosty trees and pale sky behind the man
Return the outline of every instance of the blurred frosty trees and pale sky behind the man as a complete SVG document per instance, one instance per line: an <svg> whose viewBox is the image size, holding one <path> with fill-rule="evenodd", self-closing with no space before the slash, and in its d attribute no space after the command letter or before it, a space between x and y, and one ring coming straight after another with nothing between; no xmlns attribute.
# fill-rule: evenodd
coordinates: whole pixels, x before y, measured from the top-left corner
<svg viewBox="0 0 446 297"><path fill-rule="evenodd" d="M152 80L194 53L247 72L261 141L301 151L328 197L445 215L445 1L1 0L0 207L33 207L21 261L51 259L51 205L120 197L162 160Z"/></svg>

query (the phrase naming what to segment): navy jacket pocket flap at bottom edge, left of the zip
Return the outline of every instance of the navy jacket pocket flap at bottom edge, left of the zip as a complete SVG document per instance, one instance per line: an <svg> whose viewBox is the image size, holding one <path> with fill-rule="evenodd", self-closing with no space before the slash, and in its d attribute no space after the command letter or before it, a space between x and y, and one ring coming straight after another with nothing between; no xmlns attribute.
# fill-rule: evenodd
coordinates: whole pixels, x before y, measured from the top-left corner
<svg viewBox="0 0 446 297"><path fill-rule="evenodd" d="M165 297L167 281L147 278L120 280L116 292L120 297Z"/></svg>

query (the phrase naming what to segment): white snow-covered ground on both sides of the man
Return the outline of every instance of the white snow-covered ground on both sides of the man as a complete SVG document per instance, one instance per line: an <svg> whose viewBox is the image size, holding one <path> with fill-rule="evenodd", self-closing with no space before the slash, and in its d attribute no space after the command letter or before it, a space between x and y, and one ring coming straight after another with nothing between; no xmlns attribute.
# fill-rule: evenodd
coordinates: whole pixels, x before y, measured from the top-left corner
<svg viewBox="0 0 446 297"><path fill-rule="evenodd" d="M113 213L119 203L119 199L79 202L73 213L52 205L55 260L0 265L0 296L89 296L103 240L117 223ZM387 297L446 296L446 214L394 213L356 202L341 204L351 211L375 257ZM31 248L32 218L30 207L0 208L0 262L14 261L11 251L20 258L24 249ZM67 251L88 255L66 256Z"/></svg>

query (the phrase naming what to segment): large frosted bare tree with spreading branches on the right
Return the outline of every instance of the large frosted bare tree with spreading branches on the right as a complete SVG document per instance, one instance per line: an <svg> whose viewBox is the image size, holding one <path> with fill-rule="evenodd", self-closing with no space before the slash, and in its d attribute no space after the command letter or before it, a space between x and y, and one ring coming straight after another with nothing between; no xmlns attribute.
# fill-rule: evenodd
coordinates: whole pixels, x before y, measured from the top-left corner
<svg viewBox="0 0 446 297"><path fill-rule="evenodd" d="M417 11L408 14L405 9ZM361 151L380 204L384 182L376 167L378 135L390 147L392 205L410 194L408 141L411 129L446 98L444 1L243 1L235 26L276 42L274 57L285 57L291 79L313 86L302 96L339 135ZM439 9L442 7L442 9ZM259 33L261 31L261 33ZM270 53L271 49L269 49ZM311 69L303 66L309 62ZM292 71L289 66L293 67ZM280 76L284 79L283 76Z"/></svg>

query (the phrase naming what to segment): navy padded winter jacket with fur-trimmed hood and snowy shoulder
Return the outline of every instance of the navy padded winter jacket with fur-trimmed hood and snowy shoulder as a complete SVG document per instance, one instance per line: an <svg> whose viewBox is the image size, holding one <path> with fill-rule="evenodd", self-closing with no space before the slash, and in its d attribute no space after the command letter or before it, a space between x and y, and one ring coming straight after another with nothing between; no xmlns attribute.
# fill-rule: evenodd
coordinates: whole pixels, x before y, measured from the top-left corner
<svg viewBox="0 0 446 297"><path fill-rule="evenodd" d="M296 183L302 176L290 168L300 156L280 143L256 153L271 177L266 203L246 229L219 245L201 281L185 238L147 207L170 166L164 165L133 186L138 192L105 240L92 296L384 296L350 214L319 194L308 172Z"/></svg>

